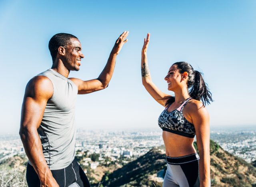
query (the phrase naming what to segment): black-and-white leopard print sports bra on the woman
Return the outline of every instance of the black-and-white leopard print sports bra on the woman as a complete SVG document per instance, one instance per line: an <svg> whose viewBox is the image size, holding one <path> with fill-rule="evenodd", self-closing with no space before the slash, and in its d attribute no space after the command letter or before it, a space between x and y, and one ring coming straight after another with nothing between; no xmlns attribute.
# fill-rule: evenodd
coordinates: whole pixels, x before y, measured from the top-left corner
<svg viewBox="0 0 256 187"><path fill-rule="evenodd" d="M164 109L158 118L158 125L163 131L168 131L191 138L195 137L196 130L194 125L190 123L182 114L184 106L190 99L192 99L192 97L186 99L177 109L171 112L167 111L170 105Z"/></svg>

